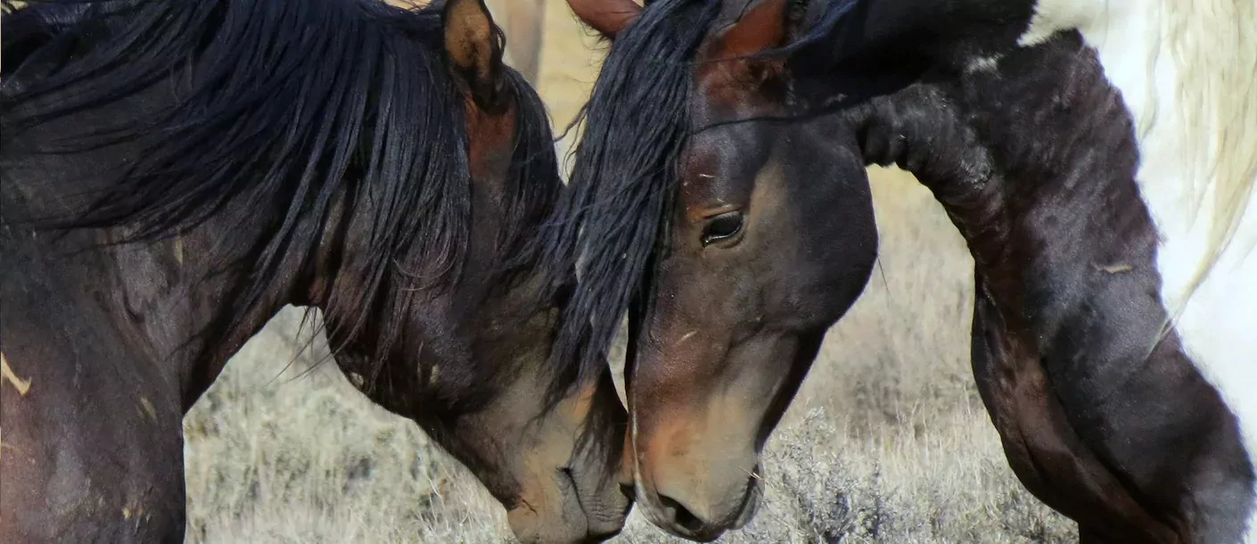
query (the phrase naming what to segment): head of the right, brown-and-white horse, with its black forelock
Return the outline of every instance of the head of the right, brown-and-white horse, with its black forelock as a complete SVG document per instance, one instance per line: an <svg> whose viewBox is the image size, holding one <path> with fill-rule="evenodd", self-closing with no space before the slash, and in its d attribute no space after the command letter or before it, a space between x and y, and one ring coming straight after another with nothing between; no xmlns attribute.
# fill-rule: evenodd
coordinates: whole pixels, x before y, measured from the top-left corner
<svg viewBox="0 0 1257 544"><path fill-rule="evenodd" d="M595 376L636 300L626 484L647 518L691 539L754 511L764 440L877 254L864 160L830 141L832 121L740 122L784 116L773 98L786 88L758 64L706 62L763 39L708 38L720 15L655 3L615 38L551 237L561 266L583 260L568 323L592 325L566 328L556 357Z"/></svg>

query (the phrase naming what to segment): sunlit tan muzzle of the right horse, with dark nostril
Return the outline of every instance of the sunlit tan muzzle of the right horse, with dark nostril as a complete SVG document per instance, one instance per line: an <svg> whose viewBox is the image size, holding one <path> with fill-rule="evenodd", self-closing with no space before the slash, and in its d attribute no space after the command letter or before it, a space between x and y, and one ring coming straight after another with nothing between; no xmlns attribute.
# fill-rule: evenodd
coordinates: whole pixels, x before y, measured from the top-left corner
<svg viewBox="0 0 1257 544"><path fill-rule="evenodd" d="M771 332L640 338L628 393L639 509L678 536L714 540L754 516L760 449L811 356Z"/></svg>

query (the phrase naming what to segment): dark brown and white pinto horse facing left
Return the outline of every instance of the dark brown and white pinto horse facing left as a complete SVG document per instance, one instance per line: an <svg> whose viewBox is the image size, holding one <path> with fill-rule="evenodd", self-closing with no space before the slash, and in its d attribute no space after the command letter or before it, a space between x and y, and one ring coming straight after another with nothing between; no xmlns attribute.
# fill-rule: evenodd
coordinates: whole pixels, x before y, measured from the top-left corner
<svg viewBox="0 0 1257 544"><path fill-rule="evenodd" d="M583 260L556 356L596 368L630 310L655 523L749 516L867 278L876 162L968 240L974 374L1031 492L1087 543L1257 543L1257 4L576 4L615 43L549 239Z"/></svg>

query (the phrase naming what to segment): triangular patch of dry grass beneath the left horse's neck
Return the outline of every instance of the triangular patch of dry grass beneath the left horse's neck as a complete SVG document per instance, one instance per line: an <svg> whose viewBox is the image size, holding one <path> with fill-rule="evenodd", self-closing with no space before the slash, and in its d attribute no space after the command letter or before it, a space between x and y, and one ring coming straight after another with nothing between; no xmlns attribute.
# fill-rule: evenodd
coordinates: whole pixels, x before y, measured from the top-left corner
<svg viewBox="0 0 1257 544"><path fill-rule="evenodd" d="M272 320L184 421L191 540L500 540L500 506L417 426L314 364L326 347L289 366L299 322Z"/></svg>

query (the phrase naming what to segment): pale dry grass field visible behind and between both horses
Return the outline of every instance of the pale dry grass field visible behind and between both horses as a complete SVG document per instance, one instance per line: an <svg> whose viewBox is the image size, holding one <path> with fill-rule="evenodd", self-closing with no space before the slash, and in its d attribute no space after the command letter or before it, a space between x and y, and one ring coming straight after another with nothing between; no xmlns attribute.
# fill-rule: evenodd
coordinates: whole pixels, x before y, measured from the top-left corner
<svg viewBox="0 0 1257 544"><path fill-rule="evenodd" d="M541 92L559 127L596 40L548 1ZM1057 543L1017 484L968 368L972 260L930 195L874 170L880 266L766 452L768 496L729 543ZM287 310L185 420L195 543L499 543L505 516L411 422L375 407ZM618 541L678 541L639 516Z"/></svg>

